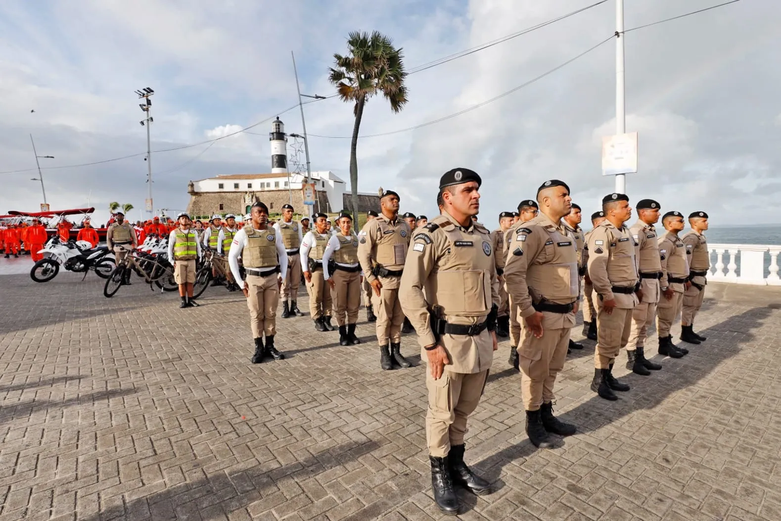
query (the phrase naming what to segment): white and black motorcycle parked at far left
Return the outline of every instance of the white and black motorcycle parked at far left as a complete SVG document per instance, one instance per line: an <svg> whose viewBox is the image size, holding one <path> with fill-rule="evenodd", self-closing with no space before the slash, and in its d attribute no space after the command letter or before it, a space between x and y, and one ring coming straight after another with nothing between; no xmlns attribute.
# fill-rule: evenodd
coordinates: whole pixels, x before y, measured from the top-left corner
<svg viewBox="0 0 781 521"><path fill-rule="evenodd" d="M87 241L62 242L55 235L37 253L44 258L35 262L30 269L30 278L35 282L48 282L57 276L62 266L66 271L84 273L81 280L87 278L87 273L94 271L98 277L106 279L114 269L114 254L109 248L98 246L92 248Z"/></svg>

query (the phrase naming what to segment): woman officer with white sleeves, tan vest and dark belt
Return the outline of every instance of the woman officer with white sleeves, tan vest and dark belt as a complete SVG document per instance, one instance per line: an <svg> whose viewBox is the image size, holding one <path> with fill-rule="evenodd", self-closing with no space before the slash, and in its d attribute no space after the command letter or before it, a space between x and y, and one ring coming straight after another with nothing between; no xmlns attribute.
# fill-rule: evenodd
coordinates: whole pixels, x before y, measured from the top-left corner
<svg viewBox="0 0 781 521"><path fill-rule="evenodd" d="M331 291L333 312L339 326L339 344L360 344L355 336L355 323L361 306L361 265L358 262L358 236L352 231L350 212L339 212L337 226L338 233L329 239L323 253L323 278ZM333 269L329 264L332 258Z"/></svg>

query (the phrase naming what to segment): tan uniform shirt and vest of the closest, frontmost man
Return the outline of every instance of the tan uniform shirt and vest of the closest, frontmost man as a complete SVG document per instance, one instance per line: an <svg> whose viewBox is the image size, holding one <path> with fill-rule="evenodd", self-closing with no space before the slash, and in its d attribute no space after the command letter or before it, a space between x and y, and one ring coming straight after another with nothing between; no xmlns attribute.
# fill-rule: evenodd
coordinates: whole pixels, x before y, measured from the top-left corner
<svg viewBox="0 0 781 521"><path fill-rule="evenodd" d="M439 305L448 323L476 324L499 305L499 281L489 231L480 224L469 227L442 212L415 231L399 289L401 309L418 333L421 348L434 343L428 309ZM490 334L443 334L453 373L480 373L490 368L494 346ZM426 353L421 356L426 360Z"/></svg>

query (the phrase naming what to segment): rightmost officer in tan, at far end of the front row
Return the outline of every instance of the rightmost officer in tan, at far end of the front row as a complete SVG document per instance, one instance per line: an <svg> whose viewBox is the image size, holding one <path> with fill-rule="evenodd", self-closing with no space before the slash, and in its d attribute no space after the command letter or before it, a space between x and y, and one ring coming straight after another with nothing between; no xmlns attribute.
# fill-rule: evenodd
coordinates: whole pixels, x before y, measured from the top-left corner
<svg viewBox="0 0 781 521"><path fill-rule="evenodd" d="M681 312L681 340L689 344L699 344L706 340L694 333L694 317L702 307L705 297L705 284L708 284L708 271L711 269L711 253L703 232L708 230L708 214L692 212L689 215L691 230L683 235L686 244L686 258L689 259L689 281L691 286L683 294L683 312Z"/></svg>

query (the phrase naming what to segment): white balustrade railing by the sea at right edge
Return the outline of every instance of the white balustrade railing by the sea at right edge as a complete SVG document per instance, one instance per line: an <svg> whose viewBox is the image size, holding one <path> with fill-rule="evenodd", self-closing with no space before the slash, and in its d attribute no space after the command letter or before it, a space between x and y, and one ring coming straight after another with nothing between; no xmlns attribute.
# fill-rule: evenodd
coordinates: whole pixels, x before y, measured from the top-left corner
<svg viewBox="0 0 781 521"><path fill-rule="evenodd" d="M776 244L708 244L711 250L711 280L736 284L781 286ZM715 262L713 262L715 254ZM724 263L725 255L729 255ZM770 262L768 264L768 257ZM726 268L726 271L725 271Z"/></svg>

